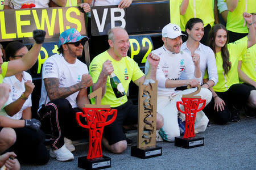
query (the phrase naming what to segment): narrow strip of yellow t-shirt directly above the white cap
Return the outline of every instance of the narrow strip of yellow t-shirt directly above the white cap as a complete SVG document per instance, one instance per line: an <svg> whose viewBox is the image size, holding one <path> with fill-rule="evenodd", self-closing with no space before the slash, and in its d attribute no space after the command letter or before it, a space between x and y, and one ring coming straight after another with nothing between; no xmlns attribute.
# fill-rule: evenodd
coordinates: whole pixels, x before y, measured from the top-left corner
<svg viewBox="0 0 256 170"><path fill-rule="evenodd" d="M183 0L170 0L170 20L180 26L180 5Z"/></svg>

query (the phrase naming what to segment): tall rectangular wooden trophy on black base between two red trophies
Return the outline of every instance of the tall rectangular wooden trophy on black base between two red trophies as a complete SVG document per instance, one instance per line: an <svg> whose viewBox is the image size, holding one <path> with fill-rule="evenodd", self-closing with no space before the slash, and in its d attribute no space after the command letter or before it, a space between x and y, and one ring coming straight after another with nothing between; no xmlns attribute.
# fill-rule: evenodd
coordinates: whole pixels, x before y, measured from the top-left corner
<svg viewBox="0 0 256 170"><path fill-rule="evenodd" d="M156 99L158 83L148 80L139 83L139 114L137 146L131 147L131 156L142 159L162 155L162 147L156 146ZM152 83L151 83L152 82Z"/></svg>

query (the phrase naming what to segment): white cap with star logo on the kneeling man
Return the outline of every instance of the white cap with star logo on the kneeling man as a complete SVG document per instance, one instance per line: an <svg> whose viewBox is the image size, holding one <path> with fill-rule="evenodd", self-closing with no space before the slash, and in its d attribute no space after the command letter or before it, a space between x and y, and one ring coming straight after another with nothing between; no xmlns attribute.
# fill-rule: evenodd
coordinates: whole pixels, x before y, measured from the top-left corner
<svg viewBox="0 0 256 170"><path fill-rule="evenodd" d="M181 35L187 36L187 35L181 33L181 29L180 29L179 25L177 25L177 24L169 23L169 24L165 25L162 29L162 36L164 38L168 37L170 39L176 39L176 37L181 36Z"/></svg>

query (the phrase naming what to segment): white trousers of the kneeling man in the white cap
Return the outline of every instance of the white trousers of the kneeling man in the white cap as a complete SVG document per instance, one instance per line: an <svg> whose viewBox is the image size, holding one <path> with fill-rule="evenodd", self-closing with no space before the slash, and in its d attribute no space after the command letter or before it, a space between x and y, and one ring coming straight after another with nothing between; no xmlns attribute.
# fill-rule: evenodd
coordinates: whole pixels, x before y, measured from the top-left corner
<svg viewBox="0 0 256 170"><path fill-rule="evenodd" d="M180 91L174 97L169 95L158 96L157 112L160 113L164 118L164 125L160 129L159 134L164 140L173 142L175 137L180 136L179 125L177 122L178 110L176 103L177 101L181 101L182 95L190 94L194 91L196 91L196 88ZM201 91L196 96L201 96L201 99L206 99L206 104L208 104L212 99L212 92L210 92L210 90L207 88L201 88ZM199 108L201 105L202 104L199 105ZM183 105L180 105L180 109L184 110ZM185 120L185 114L180 113L179 117L183 121ZM197 112L195 120L195 133L205 131L208 121L209 120L203 111Z"/></svg>

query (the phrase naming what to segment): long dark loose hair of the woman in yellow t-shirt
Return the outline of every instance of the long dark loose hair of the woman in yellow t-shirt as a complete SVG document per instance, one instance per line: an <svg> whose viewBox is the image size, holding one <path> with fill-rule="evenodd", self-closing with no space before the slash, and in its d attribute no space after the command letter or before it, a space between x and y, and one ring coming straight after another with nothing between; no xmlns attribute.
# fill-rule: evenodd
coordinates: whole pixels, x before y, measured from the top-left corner
<svg viewBox="0 0 256 170"><path fill-rule="evenodd" d="M229 37L228 37L228 31L226 30L226 27L224 25L216 24L212 27L212 29L209 32L208 45L213 50L214 54L216 54L215 39L216 39L217 31L219 29L224 29L226 31L226 36L227 36L226 43L221 48L221 57L222 57L222 60L223 60L222 67L223 67L223 70L224 70L224 74L228 75L228 72L231 69L231 63L229 62L229 50L228 50L228 47L227 47Z"/></svg>

